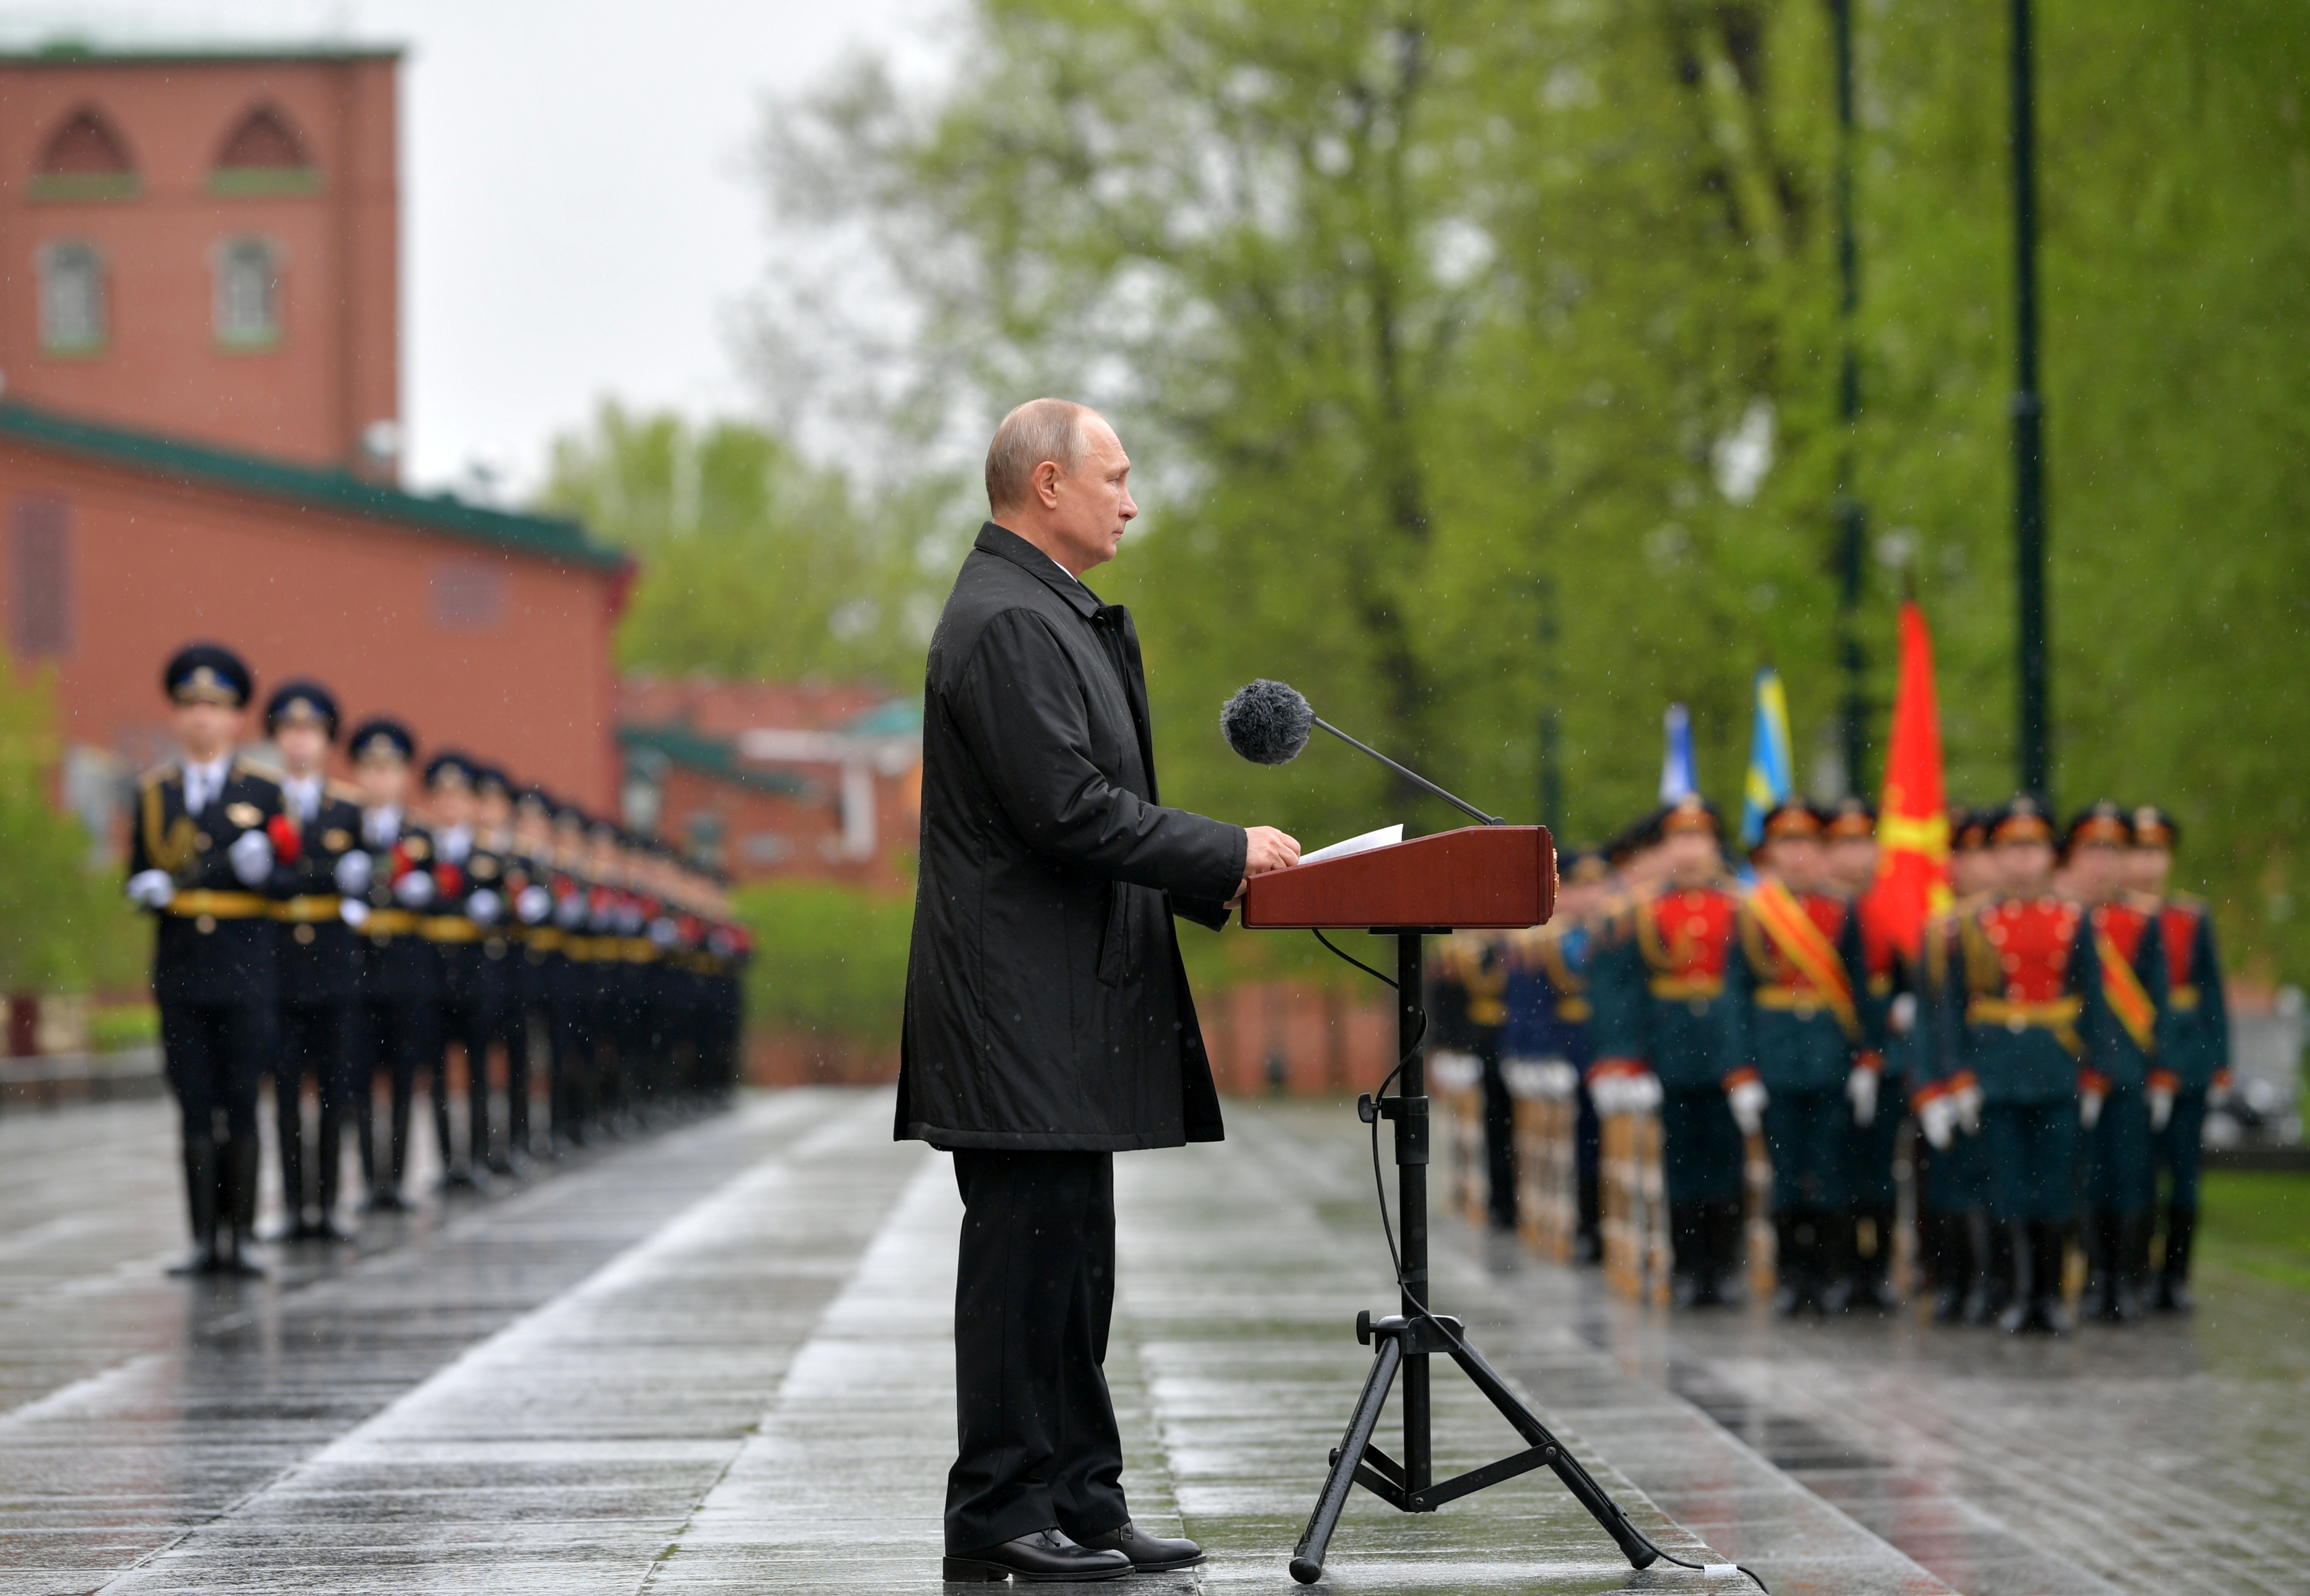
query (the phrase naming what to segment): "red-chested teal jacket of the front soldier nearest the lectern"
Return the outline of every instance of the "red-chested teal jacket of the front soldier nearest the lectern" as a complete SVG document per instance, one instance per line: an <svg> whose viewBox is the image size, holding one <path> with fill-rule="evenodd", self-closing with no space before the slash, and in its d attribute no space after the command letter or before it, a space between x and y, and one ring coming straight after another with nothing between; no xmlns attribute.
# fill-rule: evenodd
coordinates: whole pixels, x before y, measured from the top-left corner
<svg viewBox="0 0 2310 1596"><path fill-rule="evenodd" d="M1633 1060L1668 1090L1723 1081L1737 912L1716 885L1647 892L1622 910L1592 977L1599 1067Z"/></svg>

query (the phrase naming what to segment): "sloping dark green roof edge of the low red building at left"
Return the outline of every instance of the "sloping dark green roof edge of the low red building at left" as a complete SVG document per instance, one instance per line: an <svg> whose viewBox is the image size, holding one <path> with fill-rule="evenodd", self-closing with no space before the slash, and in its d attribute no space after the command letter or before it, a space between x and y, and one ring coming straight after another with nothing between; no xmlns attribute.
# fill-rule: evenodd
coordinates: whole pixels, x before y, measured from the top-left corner
<svg viewBox="0 0 2310 1596"><path fill-rule="evenodd" d="M587 536L584 527L571 520L492 510L453 494L404 494L400 487L365 483L349 471L300 467L286 460L243 455L210 443L185 443L95 420L67 420L30 404L0 402L0 439L90 455L171 480L238 487L270 499L286 499L300 508L370 515L400 527L464 538L467 543L485 543L508 554L531 554L564 566L621 570L628 564L619 550L596 543Z"/></svg>

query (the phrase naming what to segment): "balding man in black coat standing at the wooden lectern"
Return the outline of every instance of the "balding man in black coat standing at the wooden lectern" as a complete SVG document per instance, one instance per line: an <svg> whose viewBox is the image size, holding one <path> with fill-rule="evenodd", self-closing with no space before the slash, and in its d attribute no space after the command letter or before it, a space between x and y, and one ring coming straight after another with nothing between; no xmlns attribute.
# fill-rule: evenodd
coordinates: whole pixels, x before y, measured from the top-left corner
<svg viewBox="0 0 2310 1596"><path fill-rule="evenodd" d="M949 1580L1204 1557L1123 1501L1111 1159L1220 1139L1171 917L1227 924L1298 843L1157 804L1139 633L1081 582L1139 513L1127 478L1093 411L1012 411L986 453L996 520L931 635L896 1132L954 1153L966 1210Z"/></svg>

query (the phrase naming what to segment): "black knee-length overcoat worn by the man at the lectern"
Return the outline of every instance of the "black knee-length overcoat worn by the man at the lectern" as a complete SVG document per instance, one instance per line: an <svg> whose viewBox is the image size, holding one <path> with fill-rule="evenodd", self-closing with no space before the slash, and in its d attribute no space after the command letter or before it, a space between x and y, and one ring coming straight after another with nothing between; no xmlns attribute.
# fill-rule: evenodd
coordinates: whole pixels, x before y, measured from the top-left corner
<svg viewBox="0 0 2310 1596"><path fill-rule="evenodd" d="M1227 924L1243 827L1162 808L1139 633L989 522L931 635L899 1139L1220 1139L1171 915Z"/></svg>

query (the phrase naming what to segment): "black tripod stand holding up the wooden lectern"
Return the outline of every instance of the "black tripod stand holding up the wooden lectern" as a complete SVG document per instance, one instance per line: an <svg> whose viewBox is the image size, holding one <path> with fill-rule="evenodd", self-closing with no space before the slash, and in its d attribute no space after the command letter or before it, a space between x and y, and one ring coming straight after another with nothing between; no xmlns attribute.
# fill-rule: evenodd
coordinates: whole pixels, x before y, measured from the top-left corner
<svg viewBox="0 0 2310 1596"><path fill-rule="evenodd" d="M1647 1568L1661 1550L1647 1541L1629 1515L1619 1511L1603 1487L1580 1467L1580 1460L1564 1450L1557 1437L1548 1434L1529 1407L1508 1390L1508 1381L1483 1360L1483 1353L1467 1344L1460 1321L1428 1310L1428 1079L1418 1056L1421 1032L1428 1021L1421 1012L1421 938L1441 931L1395 933L1395 1023L1402 1062L1402 1086L1393 1097L1365 1095L1356 1113L1368 1125L1379 1118L1395 1120L1395 1180L1398 1213L1404 1238L1398 1259L1398 1280L1404 1291L1402 1314L1374 1321L1370 1312L1356 1317L1356 1340L1365 1347L1377 1342L1372 1372L1356 1397L1356 1414L1347 1420L1347 1437L1331 1455L1331 1474L1324 1478L1324 1494L1314 1501L1307 1529L1291 1554L1291 1578L1314 1584L1324 1575L1324 1552L1331 1547L1331 1531L1340 1524L1351 1485L1363 1485L1374 1497L1400 1513L1435 1513L1455 1497L1467 1497L1488 1485L1513 1481L1532 1469L1555 1469L1564 1487L1580 1499L1603 1531L1619 1543L1629 1566ZM1444 1353L1460 1365L1476 1390L1490 1397L1520 1437L1525 1450L1469 1469L1448 1481L1435 1478L1435 1455L1428 1427L1428 1358ZM1388 1386L1402 1377L1404 1384L1404 1460L1395 1462L1372 1446L1379 1427L1379 1409L1388 1400Z"/></svg>

